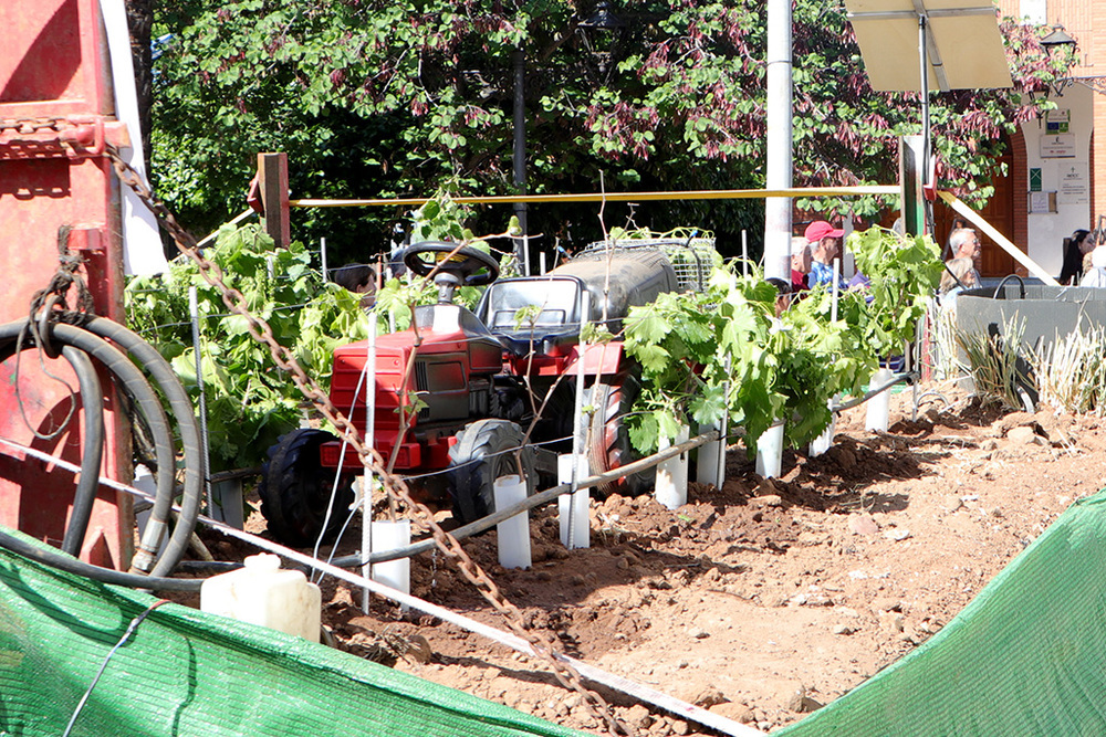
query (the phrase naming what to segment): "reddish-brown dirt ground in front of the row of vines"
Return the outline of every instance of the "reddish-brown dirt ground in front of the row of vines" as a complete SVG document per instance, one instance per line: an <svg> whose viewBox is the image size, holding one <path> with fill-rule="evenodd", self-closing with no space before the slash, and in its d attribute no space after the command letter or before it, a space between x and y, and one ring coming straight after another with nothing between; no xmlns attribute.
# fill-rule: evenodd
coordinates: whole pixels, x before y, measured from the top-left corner
<svg viewBox="0 0 1106 737"><path fill-rule="evenodd" d="M593 501L589 549L565 550L555 507L538 510L528 570L499 567L494 531L465 548L570 655L778 728L924 642L1073 501L1106 485L1099 418L1005 412L949 386L919 396L891 398L886 433L865 430L864 407L845 412L831 450L785 452L779 480L758 476L737 446L722 488L692 484L679 509ZM333 579L323 589L324 625L342 650L602 733L540 662L384 600L365 614L359 591ZM507 629L440 555L413 562L411 593ZM598 691L634 734L714 734Z"/></svg>

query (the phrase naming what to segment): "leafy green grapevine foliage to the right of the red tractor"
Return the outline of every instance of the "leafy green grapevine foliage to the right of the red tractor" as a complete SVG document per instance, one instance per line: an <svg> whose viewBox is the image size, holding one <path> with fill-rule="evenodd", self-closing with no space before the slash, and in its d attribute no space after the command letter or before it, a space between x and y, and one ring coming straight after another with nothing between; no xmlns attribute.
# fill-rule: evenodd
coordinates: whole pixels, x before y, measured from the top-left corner
<svg viewBox="0 0 1106 737"><path fill-rule="evenodd" d="M939 250L928 239L901 240L884 229L849 241L870 291L832 295L816 288L775 316L776 291L755 270L714 270L703 292L664 294L634 307L625 348L643 369L630 440L638 450L675 439L679 424L711 422L729 412L745 429L750 452L776 419L802 445L828 425L828 403L857 393L880 356L900 354L912 339L940 274Z"/></svg>

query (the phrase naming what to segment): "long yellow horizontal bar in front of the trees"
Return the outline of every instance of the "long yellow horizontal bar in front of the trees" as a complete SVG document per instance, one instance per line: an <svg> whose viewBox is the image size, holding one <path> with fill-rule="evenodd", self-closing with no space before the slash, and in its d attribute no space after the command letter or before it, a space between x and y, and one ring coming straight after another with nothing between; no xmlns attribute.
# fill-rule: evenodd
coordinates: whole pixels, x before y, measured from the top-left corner
<svg viewBox="0 0 1106 737"><path fill-rule="evenodd" d="M589 194L519 194L503 197L453 197L459 204L508 204L513 202L645 202L649 200L747 200L765 197L860 197L899 194L890 185L865 187L793 187L791 189L705 189L688 192L594 192ZM392 200L290 200L293 208L358 208L389 204L421 206L426 198Z"/></svg>

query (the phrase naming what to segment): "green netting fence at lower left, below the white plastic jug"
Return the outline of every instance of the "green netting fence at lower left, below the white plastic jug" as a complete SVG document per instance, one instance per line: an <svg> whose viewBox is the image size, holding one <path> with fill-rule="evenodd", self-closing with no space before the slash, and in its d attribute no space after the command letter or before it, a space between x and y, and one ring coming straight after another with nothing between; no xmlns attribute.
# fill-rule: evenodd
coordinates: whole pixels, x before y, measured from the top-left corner
<svg viewBox="0 0 1106 737"><path fill-rule="evenodd" d="M0 549L0 736L62 735L157 599ZM108 662L72 735L578 735L340 651L165 604Z"/></svg>

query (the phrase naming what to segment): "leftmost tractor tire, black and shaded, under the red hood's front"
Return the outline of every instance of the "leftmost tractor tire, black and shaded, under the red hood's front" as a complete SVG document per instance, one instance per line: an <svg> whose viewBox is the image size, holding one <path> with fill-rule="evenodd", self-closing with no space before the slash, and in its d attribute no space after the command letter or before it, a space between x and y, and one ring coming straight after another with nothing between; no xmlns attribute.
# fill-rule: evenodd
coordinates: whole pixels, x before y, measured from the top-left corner
<svg viewBox="0 0 1106 737"><path fill-rule="evenodd" d="M314 545L323 533L326 507L331 504L334 468L319 460L319 448L338 440L323 430L301 428L281 435L269 449L269 462L261 466L261 514L269 531L280 543L292 547ZM338 480L331 518L323 539L337 534L353 504L353 473Z"/></svg>

